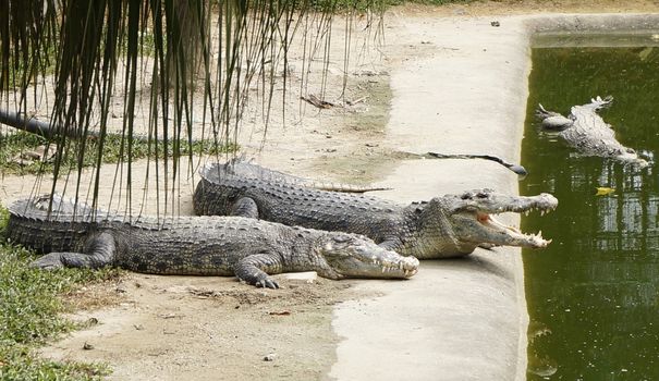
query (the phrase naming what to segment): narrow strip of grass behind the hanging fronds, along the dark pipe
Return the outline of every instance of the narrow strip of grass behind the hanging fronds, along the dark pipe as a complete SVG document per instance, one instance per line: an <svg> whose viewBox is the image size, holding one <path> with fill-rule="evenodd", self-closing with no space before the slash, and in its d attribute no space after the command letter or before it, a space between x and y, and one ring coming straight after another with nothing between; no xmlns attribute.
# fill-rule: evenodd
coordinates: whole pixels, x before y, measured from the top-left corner
<svg viewBox="0 0 659 381"><path fill-rule="evenodd" d="M0 172L7 174L25 174L25 173L39 173L52 172L53 165L51 163L41 164L40 161L36 160L28 164L20 164L14 160L17 156L23 152L34 151L39 146L45 146L48 140L41 136L30 134L27 132L20 131L15 134L8 134L5 136L0 135ZM80 142L71 142L72 147L64 149L64 160L62 161L68 168L75 168L76 156L81 150ZM102 152L103 163L117 163L122 157L126 157L125 145L126 140L122 143L121 135L112 134L106 137ZM124 146L122 152L122 145ZM54 145L52 145L54 149ZM173 149L171 142L167 147L168 157L173 157ZM156 145L150 144L146 139L134 139L133 140L133 160L144 159L146 157L154 157ZM186 156L191 151L195 155L218 155L224 152L234 152L237 150L237 146L233 144L216 146L210 140L196 140L193 142L192 146L187 142L182 142L179 149L179 155ZM158 156L162 157L164 151L164 143L158 143ZM84 167L90 167L96 161L96 153L98 152L98 143L94 138L87 140L85 147L85 156L83 159Z"/></svg>

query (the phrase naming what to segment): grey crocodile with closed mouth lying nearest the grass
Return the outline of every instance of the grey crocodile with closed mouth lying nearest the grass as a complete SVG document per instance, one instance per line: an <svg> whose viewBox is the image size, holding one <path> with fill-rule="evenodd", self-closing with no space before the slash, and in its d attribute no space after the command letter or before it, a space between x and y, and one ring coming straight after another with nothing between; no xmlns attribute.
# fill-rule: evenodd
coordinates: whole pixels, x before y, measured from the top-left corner
<svg viewBox="0 0 659 381"><path fill-rule="evenodd" d="M46 254L44 269L115 266L154 274L236 275L277 288L268 274L317 271L320 276L410 278L416 258L371 239L239 217L178 217L132 222L84 204L42 196L14 202L8 237Z"/></svg>

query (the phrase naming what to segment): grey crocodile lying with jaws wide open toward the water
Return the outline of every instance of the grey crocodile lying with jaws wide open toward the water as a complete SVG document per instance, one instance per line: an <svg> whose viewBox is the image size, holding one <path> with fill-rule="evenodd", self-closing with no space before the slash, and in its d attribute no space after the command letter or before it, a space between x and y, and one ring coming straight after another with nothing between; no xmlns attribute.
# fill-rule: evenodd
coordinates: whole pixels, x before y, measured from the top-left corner
<svg viewBox="0 0 659 381"><path fill-rule="evenodd" d="M484 245L546 247L550 241L541 234L523 234L492 214L533 209L545 212L558 205L549 194L515 197L478 189L400 206L366 195L248 176L243 165L254 164L232 160L203 169L193 199L197 214L243 216L364 234L386 249L417 258L461 256Z"/></svg>

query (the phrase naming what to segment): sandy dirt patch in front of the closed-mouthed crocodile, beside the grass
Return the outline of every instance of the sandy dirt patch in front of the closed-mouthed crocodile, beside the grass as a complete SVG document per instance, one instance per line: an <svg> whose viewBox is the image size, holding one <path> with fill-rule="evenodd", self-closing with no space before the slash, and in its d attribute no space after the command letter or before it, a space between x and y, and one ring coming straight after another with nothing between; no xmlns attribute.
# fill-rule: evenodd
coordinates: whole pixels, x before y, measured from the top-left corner
<svg viewBox="0 0 659 381"><path fill-rule="evenodd" d="M339 340L332 305L354 296L350 283L276 279L281 290L143 274L90 286L69 298L108 303L73 316L98 323L42 353L110 364L117 380L322 379Z"/></svg>

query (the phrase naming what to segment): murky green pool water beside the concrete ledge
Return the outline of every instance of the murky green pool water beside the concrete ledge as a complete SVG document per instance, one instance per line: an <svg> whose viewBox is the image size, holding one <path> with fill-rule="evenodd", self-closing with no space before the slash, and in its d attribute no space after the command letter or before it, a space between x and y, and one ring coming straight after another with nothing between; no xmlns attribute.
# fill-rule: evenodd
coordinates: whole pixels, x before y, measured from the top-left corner
<svg viewBox="0 0 659 381"><path fill-rule="evenodd" d="M522 224L553 238L523 253L528 380L659 380L659 48L534 49L529 83L520 192L560 204ZM649 168L578 157L539 133L538 102L566 114L597 95L614 97L600 114Z"/></svg>

